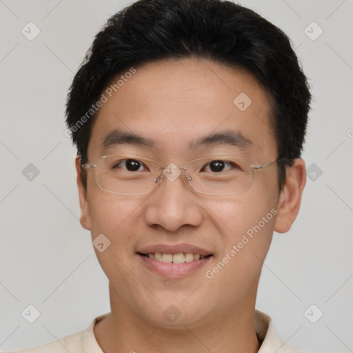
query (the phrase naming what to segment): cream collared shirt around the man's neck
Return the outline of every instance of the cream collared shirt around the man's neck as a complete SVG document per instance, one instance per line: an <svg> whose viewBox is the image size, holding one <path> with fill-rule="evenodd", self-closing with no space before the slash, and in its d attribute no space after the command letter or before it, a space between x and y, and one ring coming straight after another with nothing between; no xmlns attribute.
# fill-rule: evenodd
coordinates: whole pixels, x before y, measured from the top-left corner
<svg viewBox="0 0 353 353"><path fill-rule="evenodd" d="M17 350L8 353L103 353L94 336L93 327L110 313L95 318L90 326L81 332L70 334L59 341L53 341L39 347L32 347L26 350ZM270 316L256 310L255 325L261 347L258 353L302 353L290 345L283 343L274 332Z"/></svg>

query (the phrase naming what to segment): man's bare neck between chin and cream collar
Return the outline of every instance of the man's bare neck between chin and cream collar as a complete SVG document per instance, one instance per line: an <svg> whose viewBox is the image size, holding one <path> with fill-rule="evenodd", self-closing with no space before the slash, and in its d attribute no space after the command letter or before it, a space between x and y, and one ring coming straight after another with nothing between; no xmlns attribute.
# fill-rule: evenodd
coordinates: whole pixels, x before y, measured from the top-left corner
<svg viewBox="0 0 353 353"><path fill-rule="evenodd" d="M256 353L255 299L247 296L196 323L165 327L147 321L110 285L111 313L94 325L94 336L104 353Z"/></svg>

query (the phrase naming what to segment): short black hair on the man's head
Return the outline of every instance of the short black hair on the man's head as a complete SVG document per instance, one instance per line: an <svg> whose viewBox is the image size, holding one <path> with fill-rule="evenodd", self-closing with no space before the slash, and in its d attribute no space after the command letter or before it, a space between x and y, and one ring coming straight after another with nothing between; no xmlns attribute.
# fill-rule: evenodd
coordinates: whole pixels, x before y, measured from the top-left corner
<svg viewBox="0 0 353 353"><path fill-rule="evenodd" d="M210 59L257 79L270 103L281 191L286 166L303 150L309 85L286 34L232 1L139 0L108 19L68 92L66 123L81 163L88 159L96 103L112 78L152 61L183 58ZM82 180L86 187L84 173Z"/></svg>

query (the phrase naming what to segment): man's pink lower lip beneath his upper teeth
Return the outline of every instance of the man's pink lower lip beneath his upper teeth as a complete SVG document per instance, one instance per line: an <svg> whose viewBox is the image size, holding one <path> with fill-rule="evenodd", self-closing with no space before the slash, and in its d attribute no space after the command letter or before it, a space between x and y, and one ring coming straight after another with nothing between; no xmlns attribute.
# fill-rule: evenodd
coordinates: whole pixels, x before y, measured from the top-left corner
<svg viewBox="0 0 353 353"><path fill-rule="evenodd" d="M168 279L179 279L184 276L188 276L188 274L194 272L195 270L201 268L205 263L212 258L212 256L205 257L201 260L194 260L190 262L184 263L164 263L162 261L158 261L156 259L150 259L148 256L143 256L137 254L143 263L153 272L157 272L163 277Z"/></svg>

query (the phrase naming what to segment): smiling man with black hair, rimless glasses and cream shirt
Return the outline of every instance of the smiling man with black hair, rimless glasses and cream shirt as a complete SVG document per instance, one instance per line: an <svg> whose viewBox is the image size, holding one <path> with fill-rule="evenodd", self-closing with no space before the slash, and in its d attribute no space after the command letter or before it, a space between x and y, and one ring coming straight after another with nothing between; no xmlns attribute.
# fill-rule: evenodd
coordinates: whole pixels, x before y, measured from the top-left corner
<svg viewBox="0 0 353 353"><path fill-rule="evenodd" d="M21 352L298 352L255 301L299 212L309 105L288 37L247 8L141 0L110 18L67 123L111 312Z"/></svg>

